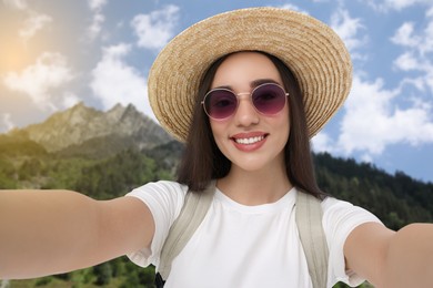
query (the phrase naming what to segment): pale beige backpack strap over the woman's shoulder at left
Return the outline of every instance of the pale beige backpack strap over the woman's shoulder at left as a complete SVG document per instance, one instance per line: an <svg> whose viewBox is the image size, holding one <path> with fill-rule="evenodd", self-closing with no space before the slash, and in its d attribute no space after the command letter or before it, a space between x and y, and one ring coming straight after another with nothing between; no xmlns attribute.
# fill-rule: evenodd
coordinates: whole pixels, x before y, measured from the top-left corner
<svg viewBox="0 0 433 288"><path fill-rule="evenodd" d="M162 247L160 265L158 267L160 276L158 277L162 277L163 280L167 280L169 277L171 263L183 249L204 219L204 216L211 206L214 192L215 181L212 181L202 193L188 191L179 217L171 226L169 236Z"/></svg>

